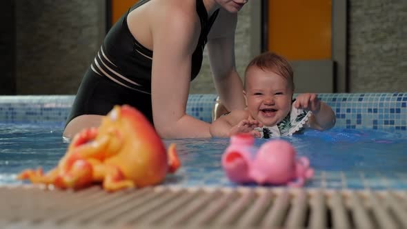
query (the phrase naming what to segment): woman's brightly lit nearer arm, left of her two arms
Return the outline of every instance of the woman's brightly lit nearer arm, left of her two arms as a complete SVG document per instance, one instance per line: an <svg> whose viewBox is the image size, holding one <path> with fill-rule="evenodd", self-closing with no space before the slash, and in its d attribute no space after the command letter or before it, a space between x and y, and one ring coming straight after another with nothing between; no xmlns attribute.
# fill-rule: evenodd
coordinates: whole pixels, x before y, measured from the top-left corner
<svg viewBox="0 0 407 229"><path fill-rule="evenodd" d="M153 19L152 114L163 138L210 137L209 123L186 115L191 57L200 23L190 10L172 8Z"/></svg>

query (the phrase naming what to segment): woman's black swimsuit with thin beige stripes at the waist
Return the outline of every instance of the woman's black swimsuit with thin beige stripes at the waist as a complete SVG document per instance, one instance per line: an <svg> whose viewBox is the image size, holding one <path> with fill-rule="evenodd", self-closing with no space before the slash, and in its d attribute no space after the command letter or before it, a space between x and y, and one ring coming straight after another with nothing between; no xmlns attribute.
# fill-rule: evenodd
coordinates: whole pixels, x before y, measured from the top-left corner
<svg viewBox="0 0 407 229"><path fill-rule="evenodd" d="M107 115L113 106L123 104L137 108L152 123L152 51L132 36L127 24L128 13L148 1L138 1L112 26L81 81L66 124L79 115ZM191 80L201 69L203 48L218 12L208 19L203 0L197 0L201 34L192 54Z"/></svg>

